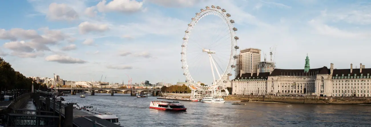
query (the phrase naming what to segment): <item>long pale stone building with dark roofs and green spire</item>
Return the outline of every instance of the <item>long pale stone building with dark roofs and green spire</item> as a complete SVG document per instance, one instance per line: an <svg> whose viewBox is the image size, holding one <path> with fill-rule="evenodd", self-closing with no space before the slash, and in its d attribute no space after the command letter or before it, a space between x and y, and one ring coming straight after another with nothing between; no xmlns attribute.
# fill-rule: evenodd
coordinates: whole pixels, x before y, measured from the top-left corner
<svg viewBox="0 0 371 127"><path fill-rule="evenodd" d="M241 73L232 80L232 95L357 96L371 97L371 68L274 69L265 73Z"/></svg>

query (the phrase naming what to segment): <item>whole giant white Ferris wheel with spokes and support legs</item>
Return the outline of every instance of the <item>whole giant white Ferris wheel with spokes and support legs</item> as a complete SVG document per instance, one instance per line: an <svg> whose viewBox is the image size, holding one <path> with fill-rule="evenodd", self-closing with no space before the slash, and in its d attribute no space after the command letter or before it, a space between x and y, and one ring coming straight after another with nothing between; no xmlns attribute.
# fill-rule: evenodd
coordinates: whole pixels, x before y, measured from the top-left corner
<svg viewBox="0 0 371 127"><path fill-rule="evenodd" d="M202 24L200 20L209 16L216 16L217 19L211 22L220 21L221 24L200 25L200 23ZM239 55L236 55L237 49L239 49L237 46L239 37L236 36L237 28L233 27L234 20L230 20L230 16L231 14L227 13L225 9L222 9L220 6L212 5L211 7L206 6L206 9L201 9L199 13L196 13L195 17L191 18L192 20L188 24L187 30L185 30L183 44L181 45L182 52L180 53L183 75L186 77L186 81L191 90L198 90L201 92L212 91L220 88L225 89L225 87L230 86L230 84L228 85L228 83L230 83L229 77L232 76L232 71L236 68L236 59L239 58ZM200 34L193 34L196 24L200 25L200 27L197 27L201 29ZM207 26L211 28L204 28ZM214 30L214 28L221 28L222 30L219 32L218 30ZM215 33L215 35L213 37L208 37L209 33ZM200 35L201 37L192 39L194 35ZM207 68L208 71L202 70L201 72L204 72L203 75L212 75L210 76L210 78L212 77L210 85L200 85L199 82L194 80L195 77L203 76L192 70L195 66L190 65L191 63L195 63L197 59L190 58L190 55L194 52L202 57L200 62L196 63L195 66L205 65L205 67L201 67L201 69ZM192 77L191 74L194 75L194 77Z"/></svg>

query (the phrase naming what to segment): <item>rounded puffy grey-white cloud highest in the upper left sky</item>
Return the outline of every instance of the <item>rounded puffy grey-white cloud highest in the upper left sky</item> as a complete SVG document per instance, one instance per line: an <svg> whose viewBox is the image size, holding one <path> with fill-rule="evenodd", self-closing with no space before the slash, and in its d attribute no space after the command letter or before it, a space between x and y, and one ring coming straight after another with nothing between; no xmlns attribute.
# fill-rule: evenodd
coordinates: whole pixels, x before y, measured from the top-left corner
<svg viewBox="0 0 371 127"><path fill-rule="evenodd" d="M47 13L49 20L76 20L79 18L78 13L67 4L51 3Z"/></svg>

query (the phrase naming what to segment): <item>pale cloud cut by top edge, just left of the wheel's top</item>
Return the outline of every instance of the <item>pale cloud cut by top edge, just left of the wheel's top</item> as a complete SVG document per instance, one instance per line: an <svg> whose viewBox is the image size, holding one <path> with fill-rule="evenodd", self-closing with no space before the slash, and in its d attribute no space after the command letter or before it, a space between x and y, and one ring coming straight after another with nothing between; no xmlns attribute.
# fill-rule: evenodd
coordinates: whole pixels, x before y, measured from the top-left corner
<svg viewBox="0 0 371 127"><path fill-rule="evenodd" d="M201 0L148 0L151 3L165 7L191 7Z"/></svg>

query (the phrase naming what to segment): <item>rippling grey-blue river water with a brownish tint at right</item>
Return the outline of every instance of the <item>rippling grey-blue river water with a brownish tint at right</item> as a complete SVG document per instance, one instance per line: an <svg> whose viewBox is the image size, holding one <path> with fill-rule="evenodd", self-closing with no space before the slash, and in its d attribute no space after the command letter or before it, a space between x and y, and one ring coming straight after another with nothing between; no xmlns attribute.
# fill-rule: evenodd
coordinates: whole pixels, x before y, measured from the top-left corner
<svg viewBox="0 0 371 127"><path fill-rule="evenodd" d="M233 105L180 101L185 112L150 109L154 96L96 93L94 96L64 96L67 102L93 106L115 113L124 127L370 127L371 105L279 104L241 102ZM27 102L27 109L35 109Z"/></svg>

